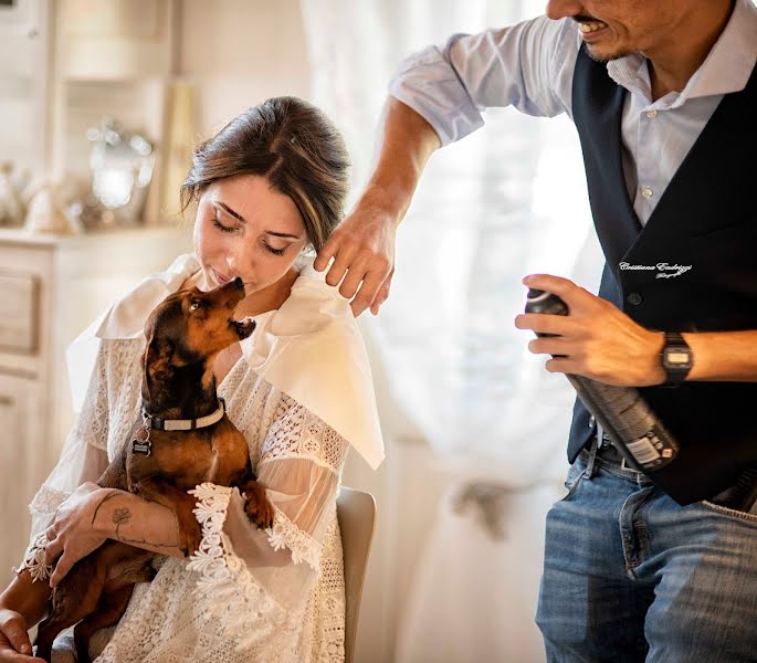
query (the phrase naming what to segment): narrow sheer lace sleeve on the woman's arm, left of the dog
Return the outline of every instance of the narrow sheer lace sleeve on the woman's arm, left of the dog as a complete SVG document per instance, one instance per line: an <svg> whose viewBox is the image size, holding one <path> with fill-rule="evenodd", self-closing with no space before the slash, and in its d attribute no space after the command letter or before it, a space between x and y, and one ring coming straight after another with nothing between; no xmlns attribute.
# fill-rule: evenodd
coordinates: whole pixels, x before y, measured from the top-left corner
<svg viewBox="0 0 757 663"><path fill-rule="evenodd" d="M107 466L108 401L106 390L106 341L101 344L82 412L69 433L61 457L29 505L32 516L30 545L17 572L28 568L35 580L48 577L42 549L45 530L55 509L77 486L96 481Z"/></svg>

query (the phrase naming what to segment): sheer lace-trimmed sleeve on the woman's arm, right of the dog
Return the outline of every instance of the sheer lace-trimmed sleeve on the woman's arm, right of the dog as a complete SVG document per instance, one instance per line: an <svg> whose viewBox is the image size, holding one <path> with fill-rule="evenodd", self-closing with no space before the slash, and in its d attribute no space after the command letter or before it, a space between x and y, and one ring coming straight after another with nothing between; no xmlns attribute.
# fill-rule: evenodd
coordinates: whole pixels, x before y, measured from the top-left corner
<svg viewBox="0 0 757 663"><path fill-rule="evenodd" d="M274 525L259 530L235 488L198 486L196 511L203 539L190 568L204 596L218 597L242 620L283 620L301 613L320 572L323 539L336 518L336 494L347 442L304 407L282 397L257 465L257 480L274 505ZM252 617L250 617L252 615Z"/></svg>

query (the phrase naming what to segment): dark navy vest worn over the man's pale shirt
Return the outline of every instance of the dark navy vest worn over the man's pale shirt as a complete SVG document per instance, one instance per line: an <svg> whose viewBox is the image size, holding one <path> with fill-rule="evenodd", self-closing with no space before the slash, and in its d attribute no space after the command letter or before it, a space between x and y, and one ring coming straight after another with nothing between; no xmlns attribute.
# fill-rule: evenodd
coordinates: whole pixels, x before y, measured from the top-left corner
<svg viewBox="0 0 757 663"><path fill-rule="evenodd" d="M643 228L623 178L624 96L606 65L581 49L572 109L607 261L599 296L650 329L757 329L757 67L744 91L723 98ZM692 269L659 278L656 270L621 270L621 263ZM757 383L685 382L641 392L680 443L676 460L651 476L681 504L716 495L757 462ZM577 401L570 462L595 432Z"/></svg>

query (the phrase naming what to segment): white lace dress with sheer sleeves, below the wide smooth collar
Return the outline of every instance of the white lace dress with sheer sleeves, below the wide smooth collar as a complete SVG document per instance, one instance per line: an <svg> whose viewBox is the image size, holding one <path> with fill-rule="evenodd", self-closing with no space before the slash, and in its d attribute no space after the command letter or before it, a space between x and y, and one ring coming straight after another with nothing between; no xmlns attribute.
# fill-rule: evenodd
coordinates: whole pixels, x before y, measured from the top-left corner
<svg viewBox="0 0 757 663"><path fill-rule="evenodd" d="M22 568L44 577L41 545L55 508L95 481L138 415L144 336L99 340L77 424L30 505ZM251 525L236 488L194 491L203 538L189 561L160 557L136 586L98 663L344 660L345 585L336 496L348 443L241 358L219 385L275 507ZM336 394L335 394L336 396Z"/></svg>

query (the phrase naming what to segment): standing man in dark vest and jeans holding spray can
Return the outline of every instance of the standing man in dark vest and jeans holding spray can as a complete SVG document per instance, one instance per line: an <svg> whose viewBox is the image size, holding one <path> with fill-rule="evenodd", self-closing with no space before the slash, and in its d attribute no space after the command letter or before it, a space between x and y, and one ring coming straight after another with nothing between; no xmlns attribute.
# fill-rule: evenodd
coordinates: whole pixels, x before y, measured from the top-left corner
<svg viewBox="0 0 757 663"><path fill-rule="evenodd" d="M549 371L642 388L681 451L637 472L576 403L537 611L549 661L757 661L756 62L751 0L549 0L546 17L454 35L392 80L376 170L316 261L334 259L326 280L356 315L377 314L437 148L485 107L575 122L599 297L528 276L570 315L516 326L556 335L529 344L560 356Z"/></svg>

